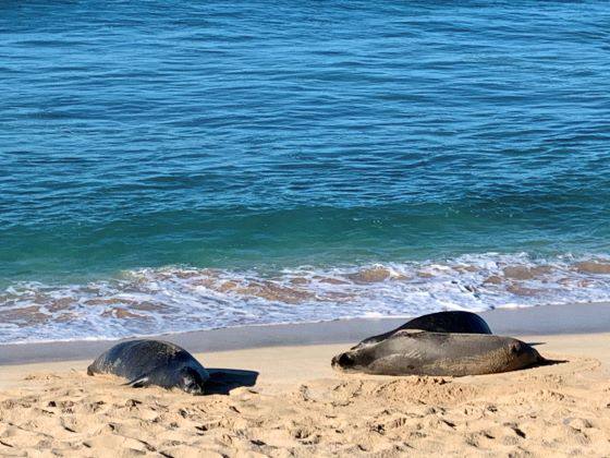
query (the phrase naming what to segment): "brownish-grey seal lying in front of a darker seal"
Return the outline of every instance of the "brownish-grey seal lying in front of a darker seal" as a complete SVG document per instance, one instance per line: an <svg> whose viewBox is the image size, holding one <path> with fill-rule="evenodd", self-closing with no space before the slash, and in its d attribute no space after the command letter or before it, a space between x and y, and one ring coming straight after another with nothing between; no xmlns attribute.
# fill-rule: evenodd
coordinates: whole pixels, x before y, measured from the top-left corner
<svg viewBox="0 0 610 458"><path fill-rule="evenodd" d="M338 354L333 369L378 375L464 376L515 371L544 363L511 337L399 330L378 343Z"/></svg>

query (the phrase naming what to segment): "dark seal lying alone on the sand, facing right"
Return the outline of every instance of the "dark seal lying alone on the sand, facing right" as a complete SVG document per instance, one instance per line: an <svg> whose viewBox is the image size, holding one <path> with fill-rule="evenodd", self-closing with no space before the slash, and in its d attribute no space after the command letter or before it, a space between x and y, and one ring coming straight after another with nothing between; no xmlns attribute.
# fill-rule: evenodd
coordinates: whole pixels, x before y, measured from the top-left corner
<svg viewBox="0 0 610 458"><path fill-rule="evenodd" d="M161 340L130 340L101 353L87 374L114 374L126 378L127 385L157 385L180 388L193 395L204 394L208 371L186 350Z"/></svg>

